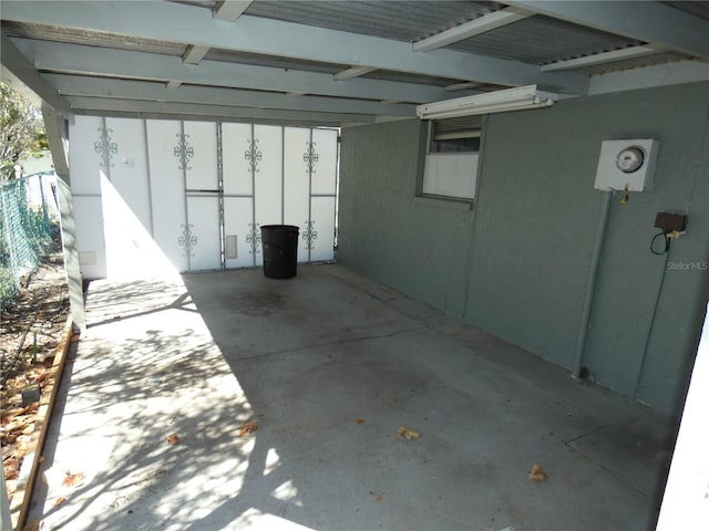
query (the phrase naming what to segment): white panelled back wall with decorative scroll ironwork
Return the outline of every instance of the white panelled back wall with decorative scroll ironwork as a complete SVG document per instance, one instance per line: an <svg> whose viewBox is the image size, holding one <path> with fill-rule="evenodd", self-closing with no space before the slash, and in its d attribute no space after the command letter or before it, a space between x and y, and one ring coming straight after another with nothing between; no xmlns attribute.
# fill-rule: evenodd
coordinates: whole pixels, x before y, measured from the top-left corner
<svg viewBox="0 0 709 531"><path fill-rule="evenodd" d="M76 116L82 274L218 270L227 240L225 268L261 266L260 226L280 223L300 228L298 261L331 260L337 166L333 129Z"/></svg>

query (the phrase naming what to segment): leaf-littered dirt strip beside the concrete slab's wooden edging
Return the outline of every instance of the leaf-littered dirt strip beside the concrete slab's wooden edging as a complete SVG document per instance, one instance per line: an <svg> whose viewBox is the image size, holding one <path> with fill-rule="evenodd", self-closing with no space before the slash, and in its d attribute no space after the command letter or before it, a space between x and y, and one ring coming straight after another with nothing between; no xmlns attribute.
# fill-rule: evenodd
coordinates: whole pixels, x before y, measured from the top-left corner
<svg viewBox="0 0 709 531"><path fill-rule="evenodd" d="M8 494L17 490L43 389L69 315L61 254L44 259L23 279L16 303L0 315L0 439Z"/></svg>

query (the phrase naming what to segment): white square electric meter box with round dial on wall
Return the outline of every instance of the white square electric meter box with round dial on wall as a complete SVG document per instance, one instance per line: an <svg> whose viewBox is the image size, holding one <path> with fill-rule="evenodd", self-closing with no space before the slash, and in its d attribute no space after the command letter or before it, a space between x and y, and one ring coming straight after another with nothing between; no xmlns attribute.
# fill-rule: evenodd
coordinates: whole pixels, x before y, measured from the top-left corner
<svg viewBox="0 0 709 531"><path fill-rule="evenodd" d="M659 144L659 140L653 138L604 140L594 188L620 191L651 190Z"/></svg>

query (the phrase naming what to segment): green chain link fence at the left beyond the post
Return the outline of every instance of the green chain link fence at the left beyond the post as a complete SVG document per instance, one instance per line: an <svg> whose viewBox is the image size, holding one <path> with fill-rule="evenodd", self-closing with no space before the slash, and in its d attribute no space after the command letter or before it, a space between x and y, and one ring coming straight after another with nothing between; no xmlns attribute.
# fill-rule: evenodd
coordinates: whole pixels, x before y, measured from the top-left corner
<svg viewBox="0 0 709 531"><path fill-rule="evenodd" d="M0 313L17 298L22 279L54 252L55 179L54 174L38 174L0 183Z"/></svg>

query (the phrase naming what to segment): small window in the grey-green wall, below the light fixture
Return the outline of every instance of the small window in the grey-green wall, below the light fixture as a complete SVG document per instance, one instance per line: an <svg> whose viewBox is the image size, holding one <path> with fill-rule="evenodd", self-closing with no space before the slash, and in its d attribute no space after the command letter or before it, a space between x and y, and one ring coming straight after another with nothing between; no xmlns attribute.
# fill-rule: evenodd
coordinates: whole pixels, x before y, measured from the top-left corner
<svg viewBox="0 0 709 531"><path fill-rule="evenodd" d="M430 121L418 195L471 201L475 195L481 134L482 116Z"/></svg>

